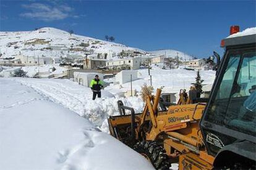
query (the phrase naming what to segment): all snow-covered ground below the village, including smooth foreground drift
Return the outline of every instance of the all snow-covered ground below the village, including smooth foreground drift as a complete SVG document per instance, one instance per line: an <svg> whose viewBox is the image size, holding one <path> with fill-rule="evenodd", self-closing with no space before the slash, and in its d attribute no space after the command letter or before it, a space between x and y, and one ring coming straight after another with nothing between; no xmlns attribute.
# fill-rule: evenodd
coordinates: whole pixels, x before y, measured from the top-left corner
<svg viewBox="0 0 256 170"><path fill-rule="evenodd" d="M196 76L196 71L156 66L150 73L155 90L163 92L189 89ZM211 84L215 71L201 75ZM139 70L133 89L140 92L144 83L150 84L147 69ZM151 169L108 134L107 118L119 114L117 100L137 113L143 110L140 95L119 96L127 89L130 83L111 84L101 99L92 100L91 89L72 79L0 78L0 169Z"/></svg>

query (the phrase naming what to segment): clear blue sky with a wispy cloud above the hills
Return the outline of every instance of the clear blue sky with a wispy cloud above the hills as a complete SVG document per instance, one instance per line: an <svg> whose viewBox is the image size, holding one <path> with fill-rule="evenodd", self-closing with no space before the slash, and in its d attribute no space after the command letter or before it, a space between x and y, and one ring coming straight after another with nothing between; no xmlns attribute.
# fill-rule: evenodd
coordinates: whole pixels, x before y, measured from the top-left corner
<svg viewBox="0 0 256 170"><path fill-rule="evenodd" d="M256 1L2 1L0 31L51 26L146 51L223 54L229 26L256 26Z"/></svg>

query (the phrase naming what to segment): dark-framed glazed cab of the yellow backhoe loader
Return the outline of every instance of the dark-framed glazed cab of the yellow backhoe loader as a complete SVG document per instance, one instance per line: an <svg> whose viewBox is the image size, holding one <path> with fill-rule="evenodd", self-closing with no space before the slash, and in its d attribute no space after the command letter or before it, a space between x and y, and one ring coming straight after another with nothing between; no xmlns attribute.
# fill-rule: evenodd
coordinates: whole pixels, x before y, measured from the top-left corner
<svg viewBox="0 0 256 170"><path fill-rule="evenodd" d="M231 36L221 43L226 52L200 123L207 152L216 157L215 168L233 164L247 169L255 164L255 41L254 33ZM237 160L241 162L236 164Z"/></svg>

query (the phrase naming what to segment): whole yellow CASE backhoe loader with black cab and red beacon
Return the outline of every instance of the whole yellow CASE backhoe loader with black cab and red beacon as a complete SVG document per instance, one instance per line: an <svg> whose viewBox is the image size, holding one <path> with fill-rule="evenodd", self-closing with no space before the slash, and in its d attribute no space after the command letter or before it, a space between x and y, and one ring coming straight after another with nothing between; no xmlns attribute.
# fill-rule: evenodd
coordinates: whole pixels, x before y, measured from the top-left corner
<svg viewBox="0 0 256 170"><path fill-rule="evenodd" d="M231 27L231 34L237 31ZM210 99L181 91L176 105L166 104L158 89L138 114L119 101L121 115L108 119L110 134L156 169L175 161L179 169L256 169L256 30L229 36L221 46Z"/></svg>

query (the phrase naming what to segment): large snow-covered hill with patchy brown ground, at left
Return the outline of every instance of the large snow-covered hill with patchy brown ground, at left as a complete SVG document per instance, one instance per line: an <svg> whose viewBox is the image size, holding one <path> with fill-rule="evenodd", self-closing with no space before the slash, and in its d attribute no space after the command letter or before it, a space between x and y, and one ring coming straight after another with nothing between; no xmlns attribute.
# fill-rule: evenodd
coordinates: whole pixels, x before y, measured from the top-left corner
<svg viewBox="0 0 256 170"><path fill-rule="evenodd" d="M2 58L23 54L39 57L65 57L69 55L85 55L85 53L119 53L132 50L145 53L140 49L127 47L115 42L69 34L56 28L40 28L35 31L0 31L0 52Z"/></svg>

